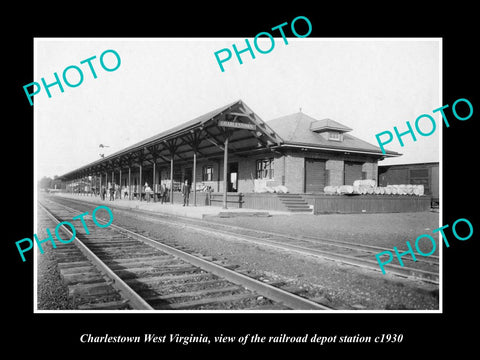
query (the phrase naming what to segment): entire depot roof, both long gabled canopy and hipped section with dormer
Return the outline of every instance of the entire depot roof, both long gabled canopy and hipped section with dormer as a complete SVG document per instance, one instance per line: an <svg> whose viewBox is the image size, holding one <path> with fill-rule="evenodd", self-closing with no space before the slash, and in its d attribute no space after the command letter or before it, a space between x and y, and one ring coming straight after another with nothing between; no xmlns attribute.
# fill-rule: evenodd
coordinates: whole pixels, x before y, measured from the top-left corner
<svg viewBox="0 0 480 360"><path fill-rule="evenodd" d="M304 113L296 113L264 122L242 100L212 110L195 119L130 145L102 159L70 171L64 180L101 173L108 169L190 161L219 159L224 154L228 137L228 154L248 156L284 147L309 147L326 151L355 151L370 155L398 156L395 152L383 154L379 147L346 134L352 129L331 119L316 120ZM342 134L342 141L329 140L326 133Z"/></svg>

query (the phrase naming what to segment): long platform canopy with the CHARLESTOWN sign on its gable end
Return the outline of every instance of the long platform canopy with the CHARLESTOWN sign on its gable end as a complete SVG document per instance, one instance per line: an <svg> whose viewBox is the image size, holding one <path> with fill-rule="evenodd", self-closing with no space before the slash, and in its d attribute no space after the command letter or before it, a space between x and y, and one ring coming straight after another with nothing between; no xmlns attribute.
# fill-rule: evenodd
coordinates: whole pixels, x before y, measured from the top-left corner
<svg viewBox="0 0 480 360"><path fill-rule="evenodd" d="M152 164L189 162L198 159L222 159L228 139L228 153L248 156L268 151L283 143L263 120L242 100L210 111L170 130L128 146L109 156L61 176L73 180L112 169Z"/></svg>

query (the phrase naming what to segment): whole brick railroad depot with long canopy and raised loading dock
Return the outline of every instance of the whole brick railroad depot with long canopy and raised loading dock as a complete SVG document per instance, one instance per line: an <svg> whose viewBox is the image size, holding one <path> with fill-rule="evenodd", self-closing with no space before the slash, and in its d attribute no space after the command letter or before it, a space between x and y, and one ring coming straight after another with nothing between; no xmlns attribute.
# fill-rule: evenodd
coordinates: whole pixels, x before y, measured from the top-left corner
<svg viewBox="0 0 480 360"><path fill-rule="evenodd" d="M292 212L424 211L426 196L327 195L326 186L378 182L378 162L401 154L350 135L351 128L303 112L263 121L243 101L225 105L61 176L67 192L98 195L111 184L120 196L190 206ZM149 195L150 196L150 195Z"/></svg>

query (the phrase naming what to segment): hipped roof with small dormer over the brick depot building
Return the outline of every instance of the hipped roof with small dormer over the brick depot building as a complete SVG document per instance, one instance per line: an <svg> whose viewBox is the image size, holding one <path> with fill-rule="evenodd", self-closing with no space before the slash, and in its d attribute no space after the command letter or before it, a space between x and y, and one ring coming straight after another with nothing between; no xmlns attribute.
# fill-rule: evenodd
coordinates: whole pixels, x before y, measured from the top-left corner
<svg viewBox="0 0 480 360"><path fill-rule="evenodd" d="M297 112L267 121L267 124L284 140L282 146L305 146L332 151L354 151L360 153L375 154L380 156L399 156L394 151L387 151L386 154L375 145L363 141L350 134L343 134L343 141L328 140L326 137L315 132L315 129L335 129L346 132L351 129L331 119L317 120ZM313 125L313 128L312 128Z"/></svg>

